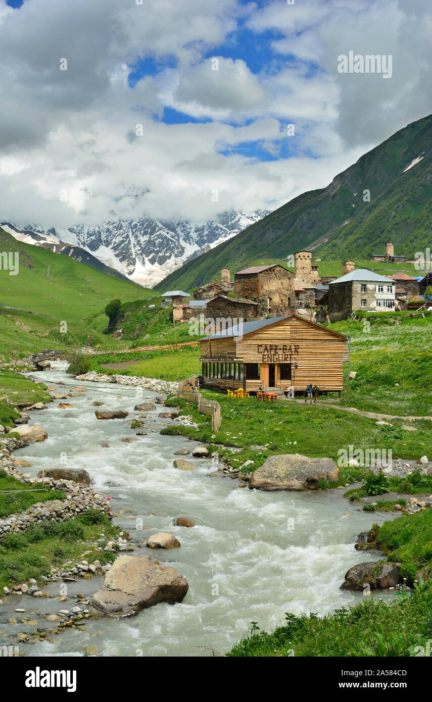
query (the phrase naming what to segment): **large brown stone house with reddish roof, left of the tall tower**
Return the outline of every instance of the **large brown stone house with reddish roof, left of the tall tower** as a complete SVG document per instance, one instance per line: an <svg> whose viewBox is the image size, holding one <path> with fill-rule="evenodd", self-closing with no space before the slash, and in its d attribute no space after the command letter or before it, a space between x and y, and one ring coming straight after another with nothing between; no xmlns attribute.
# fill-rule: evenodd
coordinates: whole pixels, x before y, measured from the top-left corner
<svg viewBox="0 0 432 702"><path fill-rule="evenodd" d="M266 314L287 314L294 307L294 276L282 265L255 265L234 275L234 297L258 302Z"/></svg>

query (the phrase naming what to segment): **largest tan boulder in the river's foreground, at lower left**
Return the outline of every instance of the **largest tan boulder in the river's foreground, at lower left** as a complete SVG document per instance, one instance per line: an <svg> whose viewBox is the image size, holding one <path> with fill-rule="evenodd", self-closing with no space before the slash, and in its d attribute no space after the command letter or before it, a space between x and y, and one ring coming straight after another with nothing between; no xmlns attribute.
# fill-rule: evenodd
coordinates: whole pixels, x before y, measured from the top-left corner
<svg viewBox="0 0 432 702"><path fill-rule="evenodd" d="M119 556L90 604L111 616L131 616L158 602L181 602L188 588L186 579L174 568L148 558Z"/></svg>

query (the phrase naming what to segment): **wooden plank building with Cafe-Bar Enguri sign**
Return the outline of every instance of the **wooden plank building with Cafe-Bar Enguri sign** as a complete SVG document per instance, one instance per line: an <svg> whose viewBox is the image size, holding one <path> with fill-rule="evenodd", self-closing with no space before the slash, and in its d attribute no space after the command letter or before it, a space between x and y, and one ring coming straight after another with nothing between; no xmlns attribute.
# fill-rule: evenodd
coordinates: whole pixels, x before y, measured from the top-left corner
<svg viewBox="0 0 432 702"><path fill-rule="evenodd" d="M204 385L251 392L343 390L348 338L297 314L231 326L200 340Z"/></svg>

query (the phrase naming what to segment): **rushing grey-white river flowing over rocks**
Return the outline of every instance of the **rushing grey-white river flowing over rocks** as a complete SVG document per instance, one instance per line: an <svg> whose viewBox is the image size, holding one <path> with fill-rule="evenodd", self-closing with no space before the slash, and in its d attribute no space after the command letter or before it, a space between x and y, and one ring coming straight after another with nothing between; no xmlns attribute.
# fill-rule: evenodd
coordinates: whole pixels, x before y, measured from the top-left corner
<svg viewBox="0 0 432 702"><path fill-rule="evenodd" d="M101 656L207 656L211 649L228 651L251 621L270 630L283 623L285 612L325 614L362 599L361 593L340 590L339 585L349 567L377 558L356 552L355 536L388 515L357 511L358 505L348 503L340 490L269 493L240 488L237 480L207 477L215 470L209 459L198 461L195 471L176 470L174 452L193 444L185 437L159 434L157 425L169 421L157 418L161 405L148 413L148 435L132 443L121 441L135 437L130 427L134 404L154 399L155 393L144 390L137 396L136 389L123 385L82 383L64 371L43 371L37 378L49 385L84 385L88 392L64 401L74 409L58 409L53 402L45 411L32 412L30 423L44 426L48 439L13 455L32 464L25 469L30 475L59 465L88 470L95 489L112 496L114 512L125 510L114 523L139 541L157 531L175 532L181 548L152 551L152 556L183 574L189 591L181 604L158 604L133 618L88 620L86 631L67 630L54 644L27 645L27 656L81 656L88 645ZM126 409L129 417L96 420L95 399L107 409ZM178 515L192 517L197 526L173 527ZM137 518L143 520L143 531L136 531ZM135 554L146 555L145 548ZM93 577L69 592L92 594L101 583ZM44 591L55 595L58 587L51 583ZM9 604L5 601L0 610L1 631L9 635L17 631L16 625L5 625L11 600L27 611L39 607L39 614L65 607L54 599L35 603L27 595L5 600Z"/></svg>

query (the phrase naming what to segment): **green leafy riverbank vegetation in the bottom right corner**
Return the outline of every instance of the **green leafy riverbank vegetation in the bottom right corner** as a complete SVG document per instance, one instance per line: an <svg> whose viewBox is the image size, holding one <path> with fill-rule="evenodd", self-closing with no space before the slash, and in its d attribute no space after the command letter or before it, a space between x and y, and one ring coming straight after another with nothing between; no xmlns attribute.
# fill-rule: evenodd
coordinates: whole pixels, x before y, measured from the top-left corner
<svg viewBox="0 0 432 702"><path fill-rule="evenodd" d="M286 614L286 623L273 633L252 623L227 656L416 656L421 652L416 647L426 649L431 637L432 580L391 603L369 596L327 616Z"/></svg>

